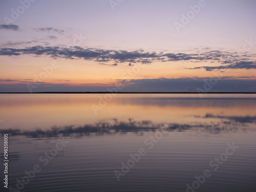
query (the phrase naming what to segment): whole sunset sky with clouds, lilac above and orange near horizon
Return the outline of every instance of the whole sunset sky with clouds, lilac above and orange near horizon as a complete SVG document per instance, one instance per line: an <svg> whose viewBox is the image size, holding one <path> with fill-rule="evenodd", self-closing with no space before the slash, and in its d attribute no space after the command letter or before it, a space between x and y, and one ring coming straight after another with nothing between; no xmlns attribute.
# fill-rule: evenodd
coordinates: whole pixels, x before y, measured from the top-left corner
<svg viewBox="0 0 256 192"><path fill-rule="evenodd" d="M0 1L0 92L256 92L254 0Z"/></svg>

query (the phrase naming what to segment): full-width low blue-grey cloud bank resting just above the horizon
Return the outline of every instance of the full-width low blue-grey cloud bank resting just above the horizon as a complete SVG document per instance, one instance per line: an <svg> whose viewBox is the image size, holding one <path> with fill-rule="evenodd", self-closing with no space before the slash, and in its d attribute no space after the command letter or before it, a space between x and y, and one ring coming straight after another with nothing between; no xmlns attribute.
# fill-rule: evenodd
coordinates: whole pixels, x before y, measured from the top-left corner
<svg viewBox="0 0 256 192"><path fill-rule="evenodd" d="M81 84L72 86L71 84L51 84L44 82L33 82L25 79L2 79L0 80L0 92L29 92L26 83L38 83L39 86L33 92L44 91L70 91L70 92L99 92L106 91L106 86L115 88L109 84ZM13 83L17 81L17 83ZM209 78L160 78L160 79L117 79L116 84L123 85L121 92L198 92L198 88L204 89L205 82ZM5 82L5 83L4 83ZM7 84L6 82L12 82ZM26 83L25 83L26 82ZM256 92L256 80L235 79L235 77L223 77L206 92ZM208 103L209 104L209 103Z"/></svg>

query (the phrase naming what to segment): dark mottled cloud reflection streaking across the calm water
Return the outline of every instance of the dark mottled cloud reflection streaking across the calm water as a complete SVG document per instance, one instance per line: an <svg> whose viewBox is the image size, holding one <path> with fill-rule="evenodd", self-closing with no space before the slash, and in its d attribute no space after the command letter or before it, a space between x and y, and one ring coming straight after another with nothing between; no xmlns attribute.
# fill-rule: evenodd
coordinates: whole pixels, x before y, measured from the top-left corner
<svg viewBox="0 0 256 192"><path fill-rule="evenodd" d="M161 122L154 123L151 120L135 121L129 118L127 121L118 119L111 119L108 121L99 121L95 124L85 124L82 126L66 125L53 126L50 130L44 131L35 129L34 131L24 131L20 129L1 130L1 134L8 133L9 136L26 136L31 138L49 138L49 137L83 137L83 136L103 136L125 134L129 132L155 132L155 131L202 131L211 134L219 134L221 132L237 132L241 131L255 131L256 116L238 117L238 116L215 116L206 114L205 116L194 116L198 119L219 119L217 122L210 123L169 123Z"/></svg>

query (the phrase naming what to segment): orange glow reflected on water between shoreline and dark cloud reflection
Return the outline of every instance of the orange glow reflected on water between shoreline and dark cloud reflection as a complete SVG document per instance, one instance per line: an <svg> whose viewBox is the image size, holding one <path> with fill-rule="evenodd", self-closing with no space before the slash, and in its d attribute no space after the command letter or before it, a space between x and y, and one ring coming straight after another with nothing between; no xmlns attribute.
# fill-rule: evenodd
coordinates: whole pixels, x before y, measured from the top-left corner
<svg viewBox="0 0 256 192"><path fill-rule="evenodd" d="M0 129L21 129L31 131L35 127L44 131L49 127L80 126L95 124L108 119L126 122L134 118L137 122L150 120L156 123L199 124L221 121L227 118L245 118L256 116L256 99L219 98L209 94L210 98L198 98L197 94L179 95L117 95L108 102L97 115L92 105L98 105L100 94L94 95L0 95ZM131 96L131 97L130 97ZM154 97L153 97L154 96ZM209 116L210 114L210 116ZM205 118L198 118L205 117ZM215 118L218 117L218 118ZM223 118L221 118L223 117Z"/></svg>

